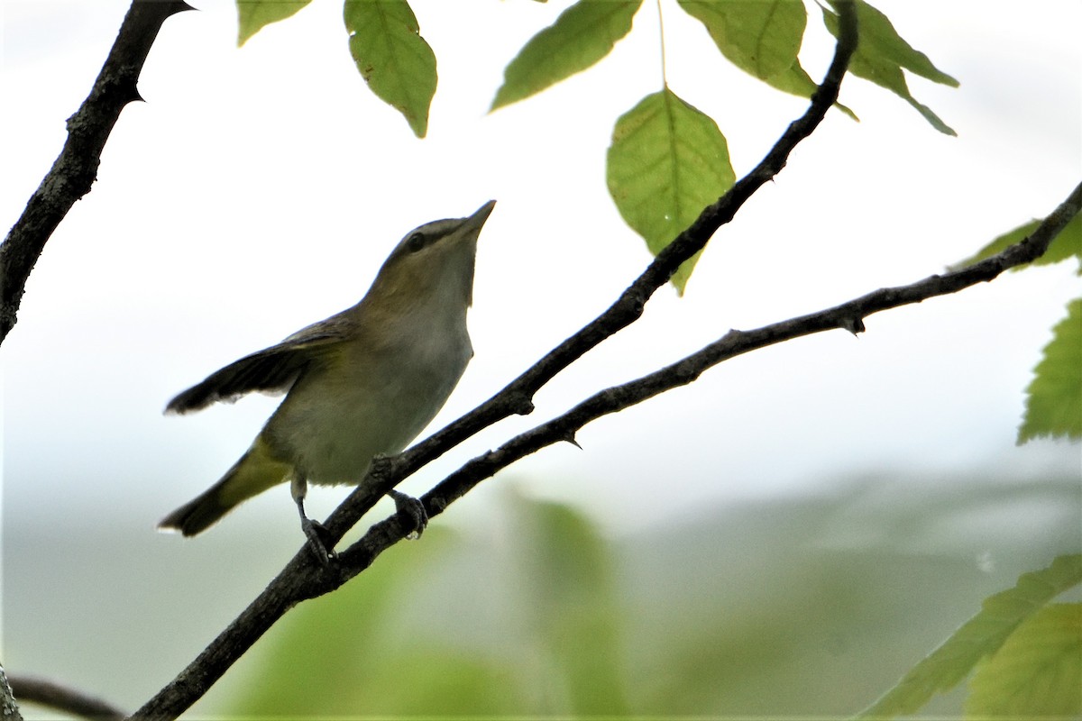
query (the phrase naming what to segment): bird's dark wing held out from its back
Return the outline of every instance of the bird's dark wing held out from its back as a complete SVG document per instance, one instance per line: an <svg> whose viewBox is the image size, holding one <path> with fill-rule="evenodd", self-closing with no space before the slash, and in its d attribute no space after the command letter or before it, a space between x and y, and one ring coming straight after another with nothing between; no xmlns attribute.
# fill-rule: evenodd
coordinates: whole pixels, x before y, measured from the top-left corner
<svg viewBox="0 0 1082 721"><path fill-rule="evenodd" d="M270 346L229 363L220 371L180 393L166 406L166 413L188 413L219 401L235 401L252 391L283 393L301 372L325 358L330 346L341 343L343 334L337 318L314 323Z"/></svg>

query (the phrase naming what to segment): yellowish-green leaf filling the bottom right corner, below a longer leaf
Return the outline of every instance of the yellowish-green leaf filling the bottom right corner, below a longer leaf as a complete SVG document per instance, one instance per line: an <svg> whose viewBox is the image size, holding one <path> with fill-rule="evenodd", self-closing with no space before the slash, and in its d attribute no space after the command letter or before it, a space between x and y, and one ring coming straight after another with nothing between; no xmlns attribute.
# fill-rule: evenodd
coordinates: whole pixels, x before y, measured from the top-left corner
<svg viewBox="0 0 1082 721"><path fill-rule="evenodd" d="M968 718L1077 718L1082 713L1082 603L1041 609L969 681Z"/></svg>

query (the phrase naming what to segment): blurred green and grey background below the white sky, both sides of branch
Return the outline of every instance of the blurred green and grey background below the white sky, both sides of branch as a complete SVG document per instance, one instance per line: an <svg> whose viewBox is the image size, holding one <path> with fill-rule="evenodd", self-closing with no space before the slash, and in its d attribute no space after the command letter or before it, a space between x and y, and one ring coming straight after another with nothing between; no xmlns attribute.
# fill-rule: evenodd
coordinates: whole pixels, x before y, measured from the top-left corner
<svg viewBox="0 0 1082 721"><path fill-rule="evenodd" d="M868 476L624 535L531 499L530 485L498 478L480 490L489 511L462 504L420 542L295 609L192 718L844 717L981 599L1082 547L1070 475ZM173 544L176 565L162 566L160 548L145 555L89 530L11 531L5 583L21 590L4 596L5 664L129 708L298 542L241 528L225 553ZM36 552L21 552L26 543ZM53 562L22 562L35 557ZM114 575L145 585L117 587ZM959 713L960 691L923 712Z"/></svg>

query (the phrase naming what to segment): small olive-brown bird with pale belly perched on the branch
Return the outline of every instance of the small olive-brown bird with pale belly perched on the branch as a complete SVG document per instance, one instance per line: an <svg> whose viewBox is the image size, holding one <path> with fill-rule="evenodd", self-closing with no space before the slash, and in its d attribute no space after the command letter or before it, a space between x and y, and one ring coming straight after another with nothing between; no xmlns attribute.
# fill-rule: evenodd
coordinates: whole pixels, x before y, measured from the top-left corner
<svg viewBox="0 0 1082 721"><path fill-rule="evenodd" d="M301 528L320 561L322 526L304 512L307 484L360 483L378 454L406 448L436 416L473 357L466 308L473 301L477 237L496 205L470 217L411 230L357 305L276 346L212 373L169 402L166 413L232 402L253 390L285 392L248 452L217 483L158 524L193 536L234 506L290 482ZM413 513L420 503L392 491Z"/></svg>

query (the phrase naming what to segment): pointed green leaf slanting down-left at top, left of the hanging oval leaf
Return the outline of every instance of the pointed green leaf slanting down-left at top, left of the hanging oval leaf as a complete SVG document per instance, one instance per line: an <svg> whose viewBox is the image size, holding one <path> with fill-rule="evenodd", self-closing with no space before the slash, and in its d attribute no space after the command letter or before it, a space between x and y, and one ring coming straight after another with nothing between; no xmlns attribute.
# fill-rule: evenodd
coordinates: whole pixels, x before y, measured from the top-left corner
<svg viewBox="0 0 1082 721"><path fill-rule="evenodd" d="M585 70L631 31L643 0L579 0L530 38L503 71L490 110L541 92Z"/></svg>

